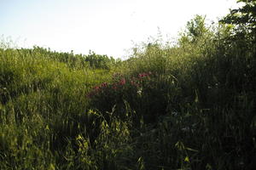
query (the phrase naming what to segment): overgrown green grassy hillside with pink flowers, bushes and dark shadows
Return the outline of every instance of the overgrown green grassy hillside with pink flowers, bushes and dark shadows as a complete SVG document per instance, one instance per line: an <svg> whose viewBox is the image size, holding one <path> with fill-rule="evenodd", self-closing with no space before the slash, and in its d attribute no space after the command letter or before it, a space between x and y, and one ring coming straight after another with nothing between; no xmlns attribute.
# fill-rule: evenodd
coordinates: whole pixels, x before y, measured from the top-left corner
<svg viewBox="0 0 256 170"><path fill-rule="evenodd" d="M253 2L125 61L0 48L0 169L253 169Z"/></svg>

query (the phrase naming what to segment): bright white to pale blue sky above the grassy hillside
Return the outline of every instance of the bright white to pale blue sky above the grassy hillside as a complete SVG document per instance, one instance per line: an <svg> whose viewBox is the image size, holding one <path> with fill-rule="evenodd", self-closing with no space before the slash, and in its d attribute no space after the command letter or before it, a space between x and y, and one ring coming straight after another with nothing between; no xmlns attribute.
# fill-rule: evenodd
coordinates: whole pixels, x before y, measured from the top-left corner
<svg viewBox="0 0 256 170"><path fill-rule="evenodd" d="M236 0L0 0L0 36L23 48L122 58L159 31L177 37L195 14L217 21L235 7Z"/></svg>

